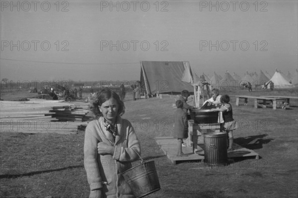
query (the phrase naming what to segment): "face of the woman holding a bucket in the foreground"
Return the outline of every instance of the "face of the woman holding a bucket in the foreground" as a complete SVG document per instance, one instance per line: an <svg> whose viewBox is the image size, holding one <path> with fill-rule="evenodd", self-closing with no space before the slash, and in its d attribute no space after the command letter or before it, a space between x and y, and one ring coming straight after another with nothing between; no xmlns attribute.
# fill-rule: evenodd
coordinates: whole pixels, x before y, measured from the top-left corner
<svg viewBox="0 0 298 198"><path fill-rule="evenodd" d="M107 101L103 102L101 106L98 106L103 117L110 122L114 122L117 115L119 105L116 99L110 98Z"/></svg>

